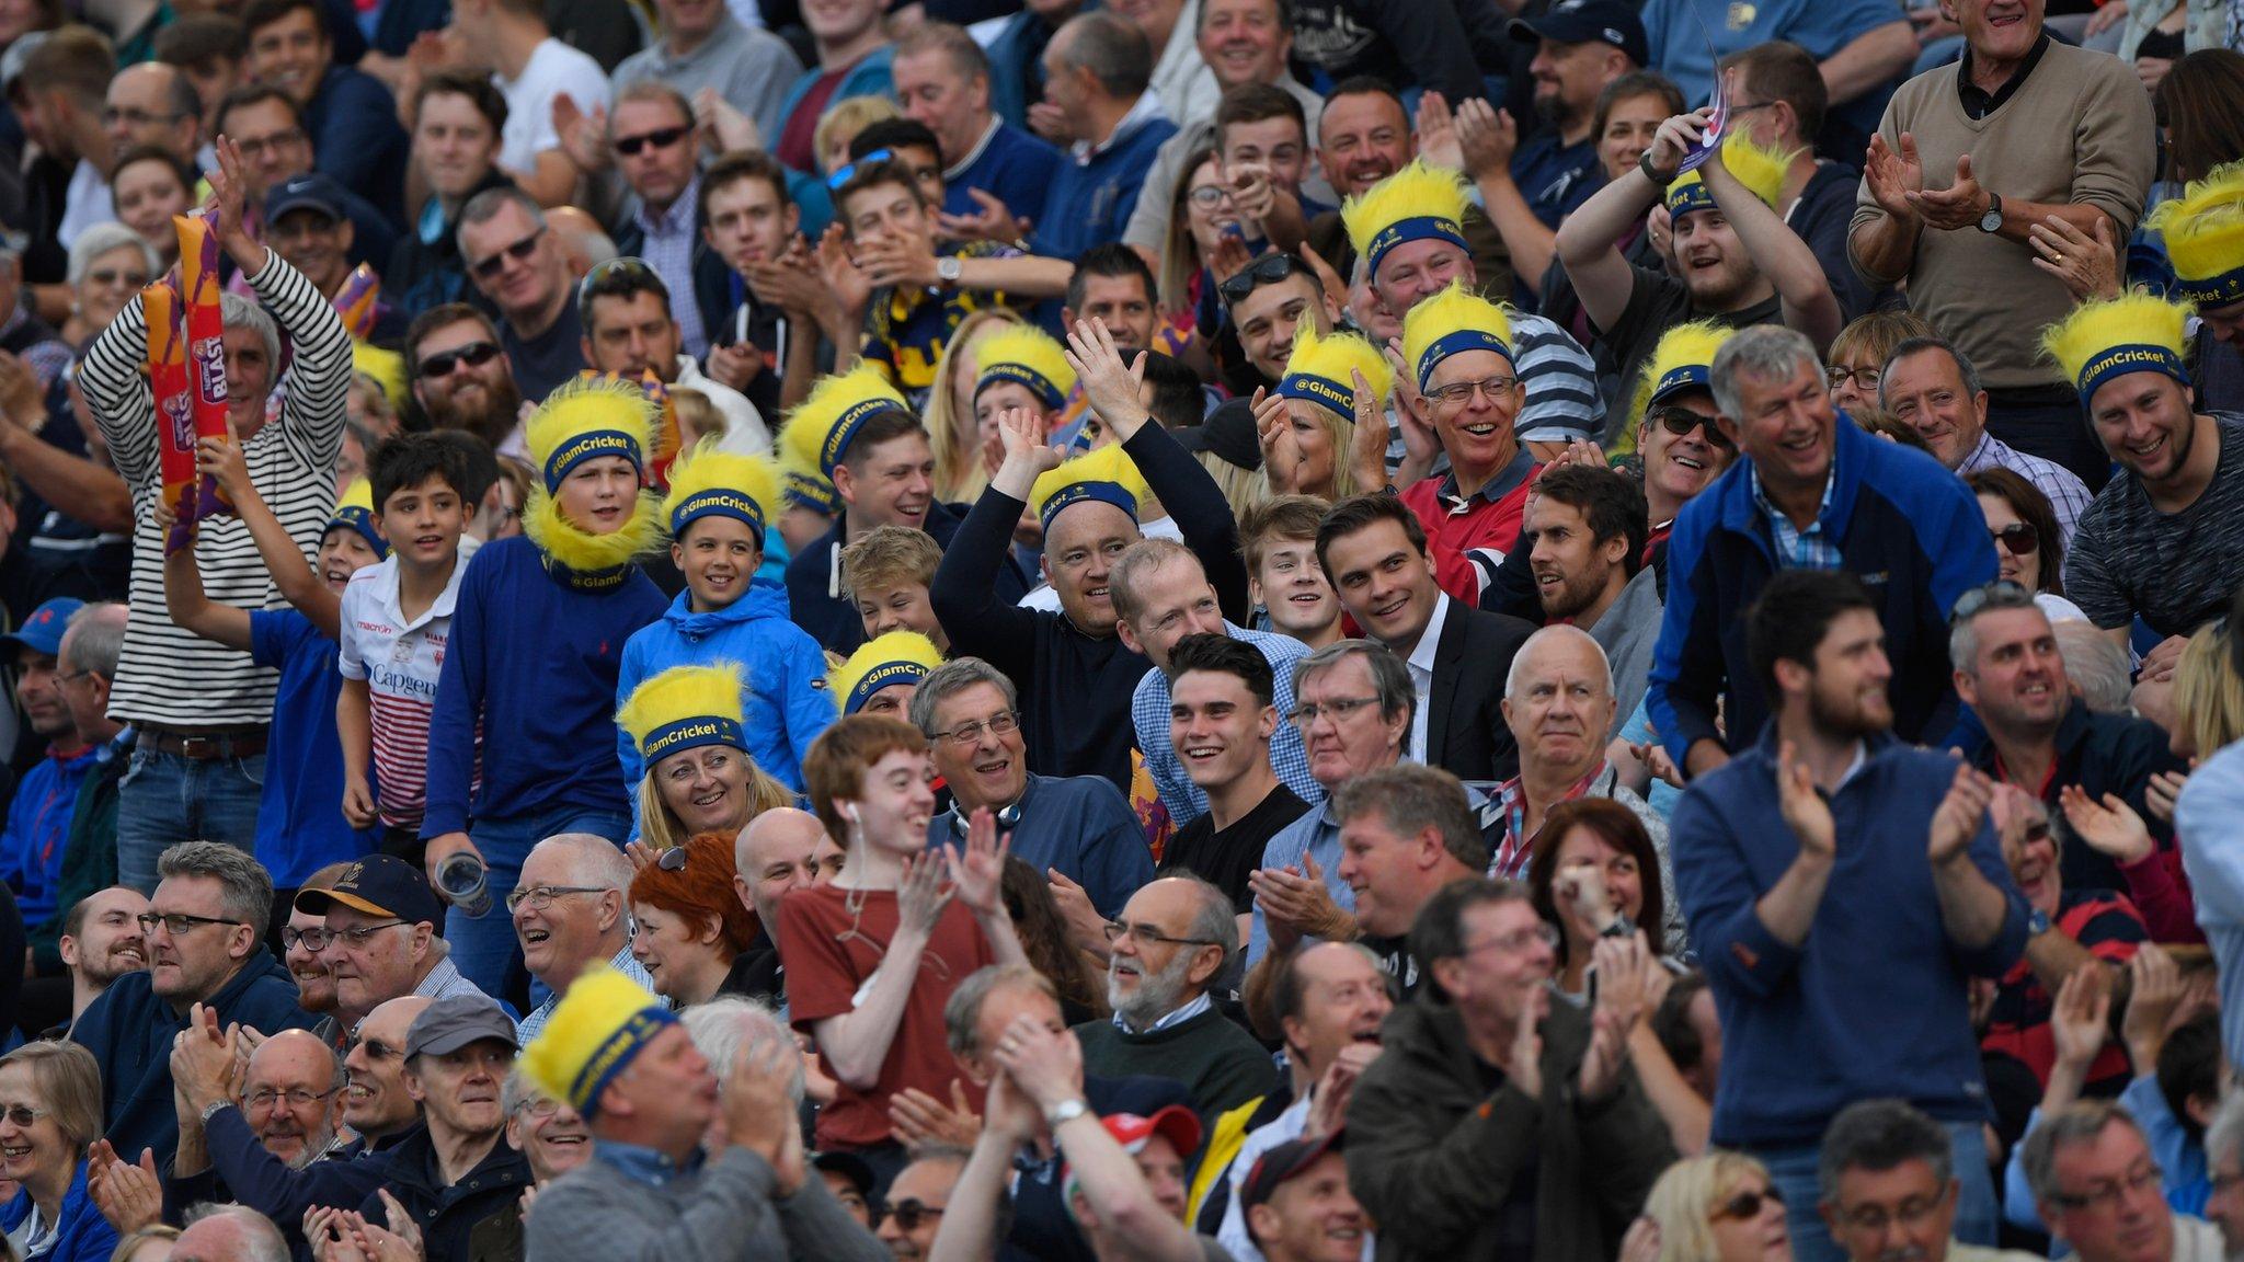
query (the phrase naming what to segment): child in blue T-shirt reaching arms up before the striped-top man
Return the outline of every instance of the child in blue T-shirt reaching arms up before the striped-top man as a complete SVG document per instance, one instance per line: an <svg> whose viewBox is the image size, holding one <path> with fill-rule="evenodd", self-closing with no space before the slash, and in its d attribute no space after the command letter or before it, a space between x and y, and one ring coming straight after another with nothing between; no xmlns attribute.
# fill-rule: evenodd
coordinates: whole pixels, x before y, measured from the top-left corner
<svg viewBox="0 0 2244 1262"><path fill-rule="evenodd" d="M319 552L305 566L296 539L249 481L238 442L204 438L195 447L195 472L218 478L220 492L233 501L233 512L249 528L274 588L289 602L289 609L236 609L215 602L202 586L195 548L164 557L164 609L180 629L245 651L256 665L280 671L254 853L274 878L276 907L287 907L296 887L314 871L330 862L350 862L373 847L373 838L352 829L334 808L343 799L343 750L334 739L334 701L343 689L343 676L334 669L334 638L343 586L361 568L379 561L388 546L375 532L364 485L352 485L321 532ZM150 503L159 530L168 534L171 510L164 496Z"/></svg>

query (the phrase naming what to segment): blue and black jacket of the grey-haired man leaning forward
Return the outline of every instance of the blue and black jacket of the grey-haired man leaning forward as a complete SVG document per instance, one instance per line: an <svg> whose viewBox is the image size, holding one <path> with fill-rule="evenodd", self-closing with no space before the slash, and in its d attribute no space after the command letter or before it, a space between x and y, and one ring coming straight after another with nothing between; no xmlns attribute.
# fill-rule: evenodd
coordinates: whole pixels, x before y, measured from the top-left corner
<svg viewBox="0 0 2244 1262"><path fill-rule="evenodd" d="M1838 541L1842 568L1878 602L1885 656L1894 665L1894 732L1932 739L1955 719L1948 674L1948 611L1966 591L1995 582L1986 516L1939 460L1865 433L1838 418L1831 503L1822 528ZM1768 516L1755 503L1753 463L1739 460L1699 492L1667 537L1667 613L1652 651L1645 707L1676 766L1696 741L1726 748L1753 741L1768 719L1746 660L1748 604L1777 573Z"/></svg>

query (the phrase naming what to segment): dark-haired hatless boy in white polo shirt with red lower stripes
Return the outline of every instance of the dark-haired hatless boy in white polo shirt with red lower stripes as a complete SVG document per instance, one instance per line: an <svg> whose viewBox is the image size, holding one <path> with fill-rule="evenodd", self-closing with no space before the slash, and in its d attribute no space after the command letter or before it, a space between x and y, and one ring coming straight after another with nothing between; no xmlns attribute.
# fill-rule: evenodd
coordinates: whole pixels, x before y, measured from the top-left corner
<svg viewBox="0 0 2244 1262"><path fill-rule="evenodd" d="M420 867L429 797L429 714L467 568L460 532L476 516L467 454L435 433L404 433L366 463L375 528L390 555L343 588L343 815L381 829L381 849ZM465 548L473 555L473 541ZM375 793L375 784L381 793Z"/></svg>

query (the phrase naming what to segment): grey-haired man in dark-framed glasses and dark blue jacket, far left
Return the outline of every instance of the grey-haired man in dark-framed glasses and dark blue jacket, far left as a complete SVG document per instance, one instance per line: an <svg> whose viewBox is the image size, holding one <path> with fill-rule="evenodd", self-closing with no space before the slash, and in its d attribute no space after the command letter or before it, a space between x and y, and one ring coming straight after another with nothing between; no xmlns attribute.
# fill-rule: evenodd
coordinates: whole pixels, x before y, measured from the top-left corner
<svg viewBox="0 0 2244 1262"><path fill-rule="evenodd" d="M263 1033L314 1024L287 966L265 950L274 883L258 860L224 842L180 842L157 876L141 914L148 972L119 977L70 1031L101 1069L103 1134L121 1154L180 1143L171 1051L191 1019Z"/></svg>

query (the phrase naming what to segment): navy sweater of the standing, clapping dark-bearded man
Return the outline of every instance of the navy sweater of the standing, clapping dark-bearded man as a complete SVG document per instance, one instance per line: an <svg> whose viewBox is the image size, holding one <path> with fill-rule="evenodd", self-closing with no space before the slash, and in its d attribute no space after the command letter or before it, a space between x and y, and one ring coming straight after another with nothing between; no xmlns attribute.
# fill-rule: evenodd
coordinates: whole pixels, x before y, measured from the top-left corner
<svg viewBox="0 0 2244 1262"><path fill-rule="evenodd" d="M1721 1015L1717 1145L1818 1143L1831 1114L1874 1096L1939 1121L1988 1116L1966 984L2002 977L2026 950L2026 900L1981 822L1970 862L2008 903L2002 932L1972 950L1941 925L1925 840L1955 772L1950 755L1869 739L1829 795L1838 860L1797 948L1755 909L1800 853L1777 806L1775 723L1683 793L1667 849Z"/></svg>

